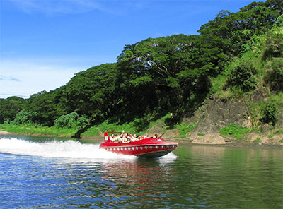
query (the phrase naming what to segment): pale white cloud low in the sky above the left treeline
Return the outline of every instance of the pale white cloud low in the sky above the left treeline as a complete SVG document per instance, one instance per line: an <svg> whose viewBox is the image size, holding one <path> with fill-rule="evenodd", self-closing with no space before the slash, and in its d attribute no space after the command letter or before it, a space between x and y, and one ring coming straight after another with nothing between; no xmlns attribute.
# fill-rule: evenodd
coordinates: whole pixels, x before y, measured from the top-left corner
<svg viewBox="0 0 283 209"><path fill-rule="evenodd" d="M42 90L54 90L84 69L55 61L1 60L0 98L30 97Z"/></svg>

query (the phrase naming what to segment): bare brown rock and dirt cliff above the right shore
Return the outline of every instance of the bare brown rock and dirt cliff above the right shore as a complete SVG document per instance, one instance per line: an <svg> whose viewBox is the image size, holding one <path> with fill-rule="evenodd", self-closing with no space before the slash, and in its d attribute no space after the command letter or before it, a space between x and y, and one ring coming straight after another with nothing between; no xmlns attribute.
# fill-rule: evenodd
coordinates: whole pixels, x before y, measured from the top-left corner
<svg viewBox="0 0 283 209"><path fill-rule="evenodd" d="M250 102L265 100L267 92L258 90L248 97ZM247 99L246 99L247 100ZM237 124L251 130L241 141L264 145L283 145L283 109L279 109L278 121L275 126L260 123L250 112L246 100L223 99L215 95L209 97L202 107L197 109L192 117L183 119L185 124L196 124L195 129L187 133L186 140L201 144L224 144L238 141L235 138L221 136L219 131L229 124ZM150 133L161 133L165 125L156 124L149 130ZM276 134L275 134L276 133ZM179 135L178 129L168 130L164 138L174 138Z"/></svg>

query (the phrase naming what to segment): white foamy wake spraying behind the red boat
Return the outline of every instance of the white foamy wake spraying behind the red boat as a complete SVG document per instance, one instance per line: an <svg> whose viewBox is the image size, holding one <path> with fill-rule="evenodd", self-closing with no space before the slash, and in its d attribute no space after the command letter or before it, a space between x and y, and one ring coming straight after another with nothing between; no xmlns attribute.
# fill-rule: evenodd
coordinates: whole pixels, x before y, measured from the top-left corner
<svg viewBox="0 0 283 209"><path fill-rule="evenodd" d="M83 144L79 141L49 141L34 142L19 138L0 138L0 153L13 155L30 155L37 157L59 157L85 160L122 160L137 159L135 156L118 155L99 148L98 144ZM175 159L176 155L169 153L161 159Z"/></svg>

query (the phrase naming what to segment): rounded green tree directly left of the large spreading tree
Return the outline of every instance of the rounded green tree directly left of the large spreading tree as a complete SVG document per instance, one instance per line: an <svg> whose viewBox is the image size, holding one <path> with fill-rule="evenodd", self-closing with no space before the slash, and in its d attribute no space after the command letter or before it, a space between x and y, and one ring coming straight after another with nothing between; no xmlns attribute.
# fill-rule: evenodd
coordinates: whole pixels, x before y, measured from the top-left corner
<svg viewBox="0 0 283 209"><path fill-rule="evenodd" d="M56 91L55 101L66 113L77 112L89 119L107 119L117 103L116 64L103 64L76 73Z"/></svg>

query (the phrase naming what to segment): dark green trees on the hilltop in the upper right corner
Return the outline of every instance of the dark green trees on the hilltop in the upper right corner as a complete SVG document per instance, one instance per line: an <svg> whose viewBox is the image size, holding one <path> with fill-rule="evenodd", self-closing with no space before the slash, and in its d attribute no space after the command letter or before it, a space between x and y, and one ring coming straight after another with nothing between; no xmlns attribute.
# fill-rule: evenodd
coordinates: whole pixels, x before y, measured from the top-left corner
<svg viewBox="0 0 283 209"><path fill-rule="evenodd" d="M226 55L238 56L243 44L253 35L264 34L272 28L279 13L282 13L280 6L282 1L253 2L237 13L221 11L198 32L223 49Z"/></svg>

